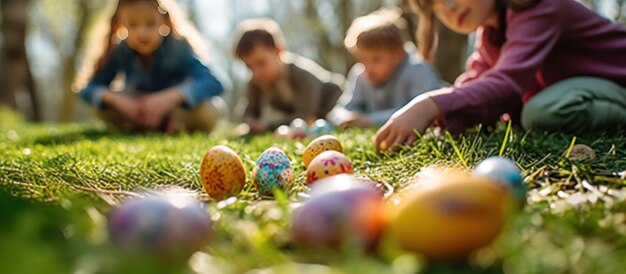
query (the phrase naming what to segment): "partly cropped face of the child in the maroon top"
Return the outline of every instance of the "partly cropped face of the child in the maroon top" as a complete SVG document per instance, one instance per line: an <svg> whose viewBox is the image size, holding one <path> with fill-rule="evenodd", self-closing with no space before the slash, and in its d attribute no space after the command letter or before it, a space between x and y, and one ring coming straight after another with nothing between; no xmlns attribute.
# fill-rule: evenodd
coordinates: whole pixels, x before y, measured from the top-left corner
<svg viewBox="0 0 626 274"><path fill-rule="evenodd" d="M469 34L479 26L497 24L495 0L434 0L435 16L451 30Z"/></svg>

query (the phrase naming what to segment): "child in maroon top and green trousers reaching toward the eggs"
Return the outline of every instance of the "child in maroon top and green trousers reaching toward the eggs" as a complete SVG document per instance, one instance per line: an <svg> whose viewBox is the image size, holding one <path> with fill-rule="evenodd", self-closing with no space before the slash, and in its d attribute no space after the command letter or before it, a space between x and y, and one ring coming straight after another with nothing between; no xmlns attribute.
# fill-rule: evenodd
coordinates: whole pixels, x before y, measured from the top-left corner
<svg viewBox="0 0 626 274"><path fill-rule="evenodd" d="M526 129L588 132L626 125L626 29L573 0L416 0L419 41L433 56L435 16L478 34L452 88L417 97L377 134L412 144L433 122L451 132L508 113Z"/></svg>

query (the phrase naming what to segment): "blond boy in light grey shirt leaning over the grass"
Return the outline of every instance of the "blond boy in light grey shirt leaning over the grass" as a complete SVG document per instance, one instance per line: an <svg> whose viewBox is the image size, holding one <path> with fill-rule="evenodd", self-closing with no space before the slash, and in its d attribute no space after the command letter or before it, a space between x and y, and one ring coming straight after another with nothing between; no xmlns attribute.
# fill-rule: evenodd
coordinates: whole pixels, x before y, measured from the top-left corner
<svg viewBox="0 0 626 274"><path fill-rule="evenodd" d="M333 112L340 127L381 126L417 95L441 87L430 65L404 49L396 26L399 20L399 11L381 10L357 18L350 26L345 45L360 63L348 78L352 91L344 95L349 99L344 104L348 112Z"/></svg>

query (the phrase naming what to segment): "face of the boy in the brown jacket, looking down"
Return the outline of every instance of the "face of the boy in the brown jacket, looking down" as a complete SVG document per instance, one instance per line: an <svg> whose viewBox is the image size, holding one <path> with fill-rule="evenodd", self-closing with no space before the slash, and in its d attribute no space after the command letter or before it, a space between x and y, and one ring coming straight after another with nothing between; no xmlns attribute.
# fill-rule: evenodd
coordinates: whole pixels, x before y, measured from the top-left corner
<svg viewBox="0 0 626 274"><path fill-rule="evenodd" d="M257 85L269 86L280 74L280 50L265 46L256 46L241 60L252 72L252 81Z"/></svg>

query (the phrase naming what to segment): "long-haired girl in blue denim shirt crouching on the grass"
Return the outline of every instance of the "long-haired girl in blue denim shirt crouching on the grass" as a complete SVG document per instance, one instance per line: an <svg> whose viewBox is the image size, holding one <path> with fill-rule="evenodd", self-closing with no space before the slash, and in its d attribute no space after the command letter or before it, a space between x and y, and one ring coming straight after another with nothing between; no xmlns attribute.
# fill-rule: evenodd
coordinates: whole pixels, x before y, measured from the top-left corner
<svg viewBox="0 0 626 274"><path fill-rule="evenodd" d="M199 35L176 3L120 0L110 26L92 75L79 79L90 79L80 96L98 116L128 132L211 131L219 115L210 99L223 88L198 59ZM114 92L120 73L124 91Z"/></svg>

